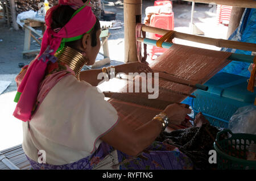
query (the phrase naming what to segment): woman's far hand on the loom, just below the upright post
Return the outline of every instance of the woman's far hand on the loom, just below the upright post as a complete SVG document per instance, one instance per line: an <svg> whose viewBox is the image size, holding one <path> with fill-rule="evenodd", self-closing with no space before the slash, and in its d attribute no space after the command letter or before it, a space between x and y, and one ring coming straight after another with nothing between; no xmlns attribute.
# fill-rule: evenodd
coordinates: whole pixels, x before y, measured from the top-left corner
<svg viewBox="0 0 256 181"><path fill-rule="evenodd" d="M141 62L131 62L124 64L123 73L154 73L154 71L147 65Z"/></svg>

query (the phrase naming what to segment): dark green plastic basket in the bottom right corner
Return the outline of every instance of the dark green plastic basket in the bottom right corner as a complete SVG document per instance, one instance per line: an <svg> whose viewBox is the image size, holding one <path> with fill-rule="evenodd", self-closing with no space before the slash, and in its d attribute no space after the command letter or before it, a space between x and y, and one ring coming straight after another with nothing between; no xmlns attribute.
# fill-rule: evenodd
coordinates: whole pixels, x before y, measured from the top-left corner
<svg viewBox="0 0 256 181"><path fill-rule="evenodd" d="M232 136L220 141L220 136L230 133ZM218 148L220 145L221 149ZM255 134L232 133L229 129L218 132L214 149L217 151L217 165L220 170L256 170L256 161L246 160L246 151L250 144L256 144Z"/></svg>

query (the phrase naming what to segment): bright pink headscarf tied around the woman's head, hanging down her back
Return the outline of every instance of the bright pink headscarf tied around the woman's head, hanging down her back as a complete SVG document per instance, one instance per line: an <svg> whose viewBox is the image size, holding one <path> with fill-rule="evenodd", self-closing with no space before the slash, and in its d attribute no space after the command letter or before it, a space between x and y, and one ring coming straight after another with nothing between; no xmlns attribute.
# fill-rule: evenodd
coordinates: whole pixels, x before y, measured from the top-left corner
<svg viewBox="0 0 256 181"><path fill-rule="evenodd" d="M85 3L81 0L60 0L59 5L53 6L47 11L45 18L47 29L44 32L39 58L29 66L18 87L17 95L20 95L20 97L13 115L22 121L31 120L31 112L38 96L40 83L45 75L47 63L48 61L56 62L57 58L54 54L59 48L61 40L82 35L88 32L96 23L96 16L93 14L91 7L85 6L60 31L53 31L51 29L52 12L61 5L71 5L73 9L78 9L84 6Z"/></svg>

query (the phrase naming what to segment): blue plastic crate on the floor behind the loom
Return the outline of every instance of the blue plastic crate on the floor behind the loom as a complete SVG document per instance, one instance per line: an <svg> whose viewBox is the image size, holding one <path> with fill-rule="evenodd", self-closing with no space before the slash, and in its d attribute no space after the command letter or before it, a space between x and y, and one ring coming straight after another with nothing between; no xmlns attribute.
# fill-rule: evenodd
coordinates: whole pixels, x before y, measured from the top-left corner
<svg viewBox="0 0 256 181"><path fill-rule="evenodd" d="M205 85L208 91L196 90L192 100L195 115L202 112L215 127L228 128L230 117L238 108L254 104L256 92L247 91L247 79L239 75L218 73Z"/></svg>

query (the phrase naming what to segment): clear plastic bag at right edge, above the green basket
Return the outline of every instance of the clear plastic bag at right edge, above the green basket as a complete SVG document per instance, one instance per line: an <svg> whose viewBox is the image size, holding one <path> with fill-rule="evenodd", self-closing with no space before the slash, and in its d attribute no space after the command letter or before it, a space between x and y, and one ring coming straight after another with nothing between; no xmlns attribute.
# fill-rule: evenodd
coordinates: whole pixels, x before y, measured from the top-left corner
<svg viewBox="0 0 256 181"><path fill-rule="evenodd" d="M238 108L229 120L229 129L233 133L256 134L256 106Z"/></svg>

